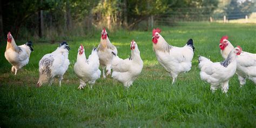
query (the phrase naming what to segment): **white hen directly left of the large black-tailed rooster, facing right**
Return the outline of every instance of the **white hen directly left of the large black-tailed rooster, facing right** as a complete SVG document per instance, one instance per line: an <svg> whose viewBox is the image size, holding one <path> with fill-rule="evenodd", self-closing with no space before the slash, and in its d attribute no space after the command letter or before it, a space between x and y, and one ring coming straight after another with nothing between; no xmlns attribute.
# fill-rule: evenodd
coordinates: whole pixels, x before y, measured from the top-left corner
<svg viewBox="0 0 256 128"><path fill-rule="evenodd" d="M112 77L123 83L125 87L130 87L134 80L142 72L143 61L136 42L131 42L131 56L127 59L119 58L115 52L112 60Z"/></svg>

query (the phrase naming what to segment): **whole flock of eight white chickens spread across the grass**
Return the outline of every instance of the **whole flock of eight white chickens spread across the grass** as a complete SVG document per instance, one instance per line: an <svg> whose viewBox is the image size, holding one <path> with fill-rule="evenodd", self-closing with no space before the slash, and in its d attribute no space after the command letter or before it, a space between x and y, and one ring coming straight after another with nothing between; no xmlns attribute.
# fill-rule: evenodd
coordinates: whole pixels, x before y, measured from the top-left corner
<svg viewBox="0 0 256 128"><path fill-rule="evenodd" d="M172 84L176 81L179 73L191 70L194 55L193 40L189 39L182 48L169 45L160 35L160 29L153 29L152 42L153 50L160 65L170 73ZM17 71L29 63L32 43L17 46L11 33L8 33L8 40L5 51L5 58L12 65L11 71ZM223 92L228 91L228 80L238 75L240 86L244 85L246 79L252 80L256 84L256 54L242 51L240 46L234 46L227 40L227 36L220 39L220 53L225 59L223 62L211 62L210 59L199 56L200 77L211 84L214 92L221 88ZM100 78L101 66L103 78L111 74L112 78L123 83L125 87L132 85L134 80L140 75L143 69L143 60L140 58L140 51L136 42L131 41L131 56L126 59L117 56L117 48L111 44L109 35L103 29L98 48L93 48L91 55L86 58L84 46L78 48L77 61L74 71L79 79L78 89L83 89L87 84L92 87L96 80ZM52 84L54 78L58 78L59 86L63 75L69 68L68 43L59 44L58 48L42 57L39 61L39 79L37 86L44 83ZM106 69L106 74L105 74Z"/></svg>

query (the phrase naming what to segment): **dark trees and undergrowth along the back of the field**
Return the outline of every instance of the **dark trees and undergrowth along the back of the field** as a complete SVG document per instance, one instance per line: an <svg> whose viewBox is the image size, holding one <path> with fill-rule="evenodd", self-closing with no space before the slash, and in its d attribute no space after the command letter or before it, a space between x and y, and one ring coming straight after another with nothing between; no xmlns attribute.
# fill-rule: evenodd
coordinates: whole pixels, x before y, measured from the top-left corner
<svg viewBox="0 0 256 128"><path fill-rule="evenodd" d="M218 3L212 0L1 1L0 34L3 37L11 31L19 39L53 39L84 36L103 26L110 30L130 30L137 29L142 22L149 26L151 17L179 11L178 8L198 8L202 14L213 13ZM207 8L203 8L205 6Z"/></svg>

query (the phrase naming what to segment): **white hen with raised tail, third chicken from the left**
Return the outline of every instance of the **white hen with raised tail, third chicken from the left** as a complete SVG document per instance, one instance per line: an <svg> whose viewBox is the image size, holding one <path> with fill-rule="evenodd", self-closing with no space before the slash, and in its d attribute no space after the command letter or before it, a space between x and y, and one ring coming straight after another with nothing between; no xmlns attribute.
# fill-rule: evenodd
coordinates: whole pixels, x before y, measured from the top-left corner
<svg viewBox="0 0 256 128"><path fill-rule="evenodd" d="M101 73L99 70L99 57L96 48L93 48L91 55L86 59L84 46L82 44L79 46L74 71L80 81L78 89L84 89L86 83L91 87L95 84L95 81L100 77Z"/></svg>

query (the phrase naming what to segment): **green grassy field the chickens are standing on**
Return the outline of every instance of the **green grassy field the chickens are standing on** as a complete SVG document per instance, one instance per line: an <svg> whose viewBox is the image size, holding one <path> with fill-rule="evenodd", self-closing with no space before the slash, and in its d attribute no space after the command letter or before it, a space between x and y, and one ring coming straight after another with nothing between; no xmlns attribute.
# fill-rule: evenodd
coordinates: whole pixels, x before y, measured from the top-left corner
<svg viewBox="0 0 256 128"><path fill-rule="evenodd" d="M224 35L234 46L256 53L256 25L198 23L161 29L161 35L174 46L184 46L193 38L196 51L192 69L181 73L177 83L171 85L171 78L152 50L151 31L109 31L119 57L130 55L132 39L139 46L144 68L129 90L110 77L98 79L91 90L77 89L73 65L78 46L82 43L89 56L100 41L100 31L92 37L68 39L71 64L61 87L57 80L52 86L36 87L39 60L58 44L32 41L35 52L29 64L14 76L4 57L6 42L2 42L0 127L255 127L255 85L247 80L240 88L235 75L227 95L221 90L212 93L210 85L200 80L197 59L202 55L214 62L223 60L219 40Z"/></svg>

